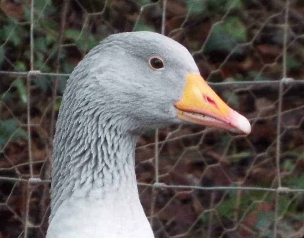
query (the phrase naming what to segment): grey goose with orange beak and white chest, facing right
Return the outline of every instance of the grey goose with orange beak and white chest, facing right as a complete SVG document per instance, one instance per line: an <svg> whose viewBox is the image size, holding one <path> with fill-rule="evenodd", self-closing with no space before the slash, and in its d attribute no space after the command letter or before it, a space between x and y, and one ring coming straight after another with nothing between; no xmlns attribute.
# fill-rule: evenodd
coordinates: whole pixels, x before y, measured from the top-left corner
<svg viewBox="0 0 304 238"><path fill-rule="evenodd" d="M58 114L46 237L154 238L137 191L136 135L182 123L251 129L168 37L117 33L89 51Z"/></svg>

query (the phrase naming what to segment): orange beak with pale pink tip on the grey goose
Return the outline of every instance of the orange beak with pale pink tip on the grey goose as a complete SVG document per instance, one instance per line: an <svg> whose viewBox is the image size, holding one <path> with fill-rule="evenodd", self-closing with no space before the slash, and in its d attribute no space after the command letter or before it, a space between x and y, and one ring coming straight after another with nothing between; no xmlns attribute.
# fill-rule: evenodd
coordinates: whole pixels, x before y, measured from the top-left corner
<svg viewBox="0 0 304 238"><path fill-rule="evenodd" d="M174 103L178 118L199 125L228 129L238 134L249 134L249 121L231 109L209 87L202 76L188 74L181 100Z"/></svg>

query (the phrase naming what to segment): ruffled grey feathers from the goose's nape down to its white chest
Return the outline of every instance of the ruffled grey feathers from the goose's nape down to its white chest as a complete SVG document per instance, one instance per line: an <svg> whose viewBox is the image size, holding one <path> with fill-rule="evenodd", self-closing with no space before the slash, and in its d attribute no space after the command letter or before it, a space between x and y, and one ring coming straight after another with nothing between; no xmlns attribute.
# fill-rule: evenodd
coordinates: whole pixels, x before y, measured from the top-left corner
<svg viewBox="0 0 304 238"><path fill-rule="evenodd" d="M78 72L80 78L85 74ZM50 219L72 195L88 197L97 189L102 198L109 191L137 189L135 135L126 130L127 119L100 96L97 101L85 95L83 84L77 89L80 84L69 81L54 139Z"/></svg>

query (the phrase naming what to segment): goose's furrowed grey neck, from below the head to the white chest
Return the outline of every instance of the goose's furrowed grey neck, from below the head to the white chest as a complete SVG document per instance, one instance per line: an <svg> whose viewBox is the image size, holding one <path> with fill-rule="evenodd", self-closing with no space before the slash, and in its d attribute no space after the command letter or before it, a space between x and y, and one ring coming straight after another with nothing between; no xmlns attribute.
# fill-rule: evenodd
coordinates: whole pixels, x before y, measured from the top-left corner
<svg viewBox="0 0 304 238"><path fill-rule="evenodd" d="M135 135L121 130L115 117L96 112L65 114L63 108L54 140L51 218L71 196L138 198Z"/></svg>

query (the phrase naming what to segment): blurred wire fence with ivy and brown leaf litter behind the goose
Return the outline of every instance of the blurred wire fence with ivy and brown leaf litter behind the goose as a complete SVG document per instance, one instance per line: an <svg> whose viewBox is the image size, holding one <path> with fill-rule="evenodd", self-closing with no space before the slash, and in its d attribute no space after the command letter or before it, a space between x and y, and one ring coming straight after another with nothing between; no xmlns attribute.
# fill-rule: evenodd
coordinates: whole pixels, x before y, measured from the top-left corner
<svg viewBox="0 0 304 238"><path fill-rule="evenodd" d="M187 47L252 124L247 137L192 125L138 138L155 237L304 237L302 0L0 1L0 237L45 237L68 76L105 37L141 30Z"/></svg>

